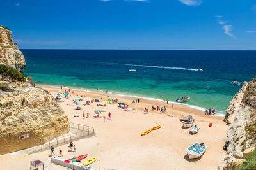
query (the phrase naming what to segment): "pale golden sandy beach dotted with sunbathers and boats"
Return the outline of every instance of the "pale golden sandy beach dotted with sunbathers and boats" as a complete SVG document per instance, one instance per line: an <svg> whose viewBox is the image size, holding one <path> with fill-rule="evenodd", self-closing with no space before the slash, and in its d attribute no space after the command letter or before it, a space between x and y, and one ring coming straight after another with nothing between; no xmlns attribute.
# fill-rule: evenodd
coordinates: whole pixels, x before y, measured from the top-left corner
<svg viewBox="0 0 256 170"><path fill-rule="evenodd" d="M44 89L56 95L60 88L41 85ZM65 90L63 89L62 92ZM136 100L132 97L117 97L118 102L129 105L128 110L118 108L118 104L106 104L106 107L97 106L100 103L90 103L89 106L81 105L81 110L75 110L73 99L85 104L87 99L104 98L115 99L114 94L100 92L84 92L74 90L69 99L61 98L60 106L68 115L70 122L90 125L95 128L96 136L74 141L76 152L68 152L68 144L58 146L54 152L60 155L59 148L63 150L63 158L70 159L78 155L88 154L88 159L97 157L99 160L92 164L95 168L106 169L217 169L225 155L223 145L226 140L227 125L223 117L205 115L204 111L196 110L188 106L172 103L164 104L161 101L140 99L140 103L132 103ZM81 95L86 96L81 98ZM71 105L67 105L71 104ZM166 112L159 114L152 111L154 106L166 106ZM148 114L144 114L144 108L148 108ZM94 110L105 110L100 116L108 117L111 112L111 120L93 118ZM89 111L89 118L82 118L83 111ZM189 134L189 128L184 129L180 117L192 113L195 115L195 124L200 127L197 134ZM168 116L172 114L173 117ZM79 117L74 117L78 115ZM213 126L209 127L209 122ZM162 125L160 129L152 131L145 136L141 133L156 125ZM200 159L189 160L186 148L191 144L204 142L207 151ZM51 150L33 153L26 157L16 159L13 153L0 156L0 163L4 169L30 169L30 161L39 159L45 162L46 169L67 169L50 163ZM81 161L83 163L84 159Z"/></svg>

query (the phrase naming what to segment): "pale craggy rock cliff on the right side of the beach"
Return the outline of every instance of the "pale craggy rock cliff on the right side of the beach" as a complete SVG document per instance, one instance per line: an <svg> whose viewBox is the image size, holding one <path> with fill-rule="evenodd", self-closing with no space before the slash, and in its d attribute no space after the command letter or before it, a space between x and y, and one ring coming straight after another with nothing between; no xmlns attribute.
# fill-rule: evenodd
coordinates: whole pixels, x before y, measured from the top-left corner
<svg viewBox="0 0 256 170"><path fill-rule="evenodd" d="M236 169L256 146L256 78L243 87L230 101L225 122L230 126L227 132L227 148L223 169Z"/></svg>

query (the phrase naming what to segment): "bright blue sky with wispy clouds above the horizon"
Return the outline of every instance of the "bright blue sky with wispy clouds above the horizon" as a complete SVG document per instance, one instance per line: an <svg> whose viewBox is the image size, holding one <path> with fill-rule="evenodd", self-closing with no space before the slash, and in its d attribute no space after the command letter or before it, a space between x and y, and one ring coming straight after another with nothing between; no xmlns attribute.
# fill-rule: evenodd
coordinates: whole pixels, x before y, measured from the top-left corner
<svg viewBox="0 0 256 170"><path fill-rule="evenodd" d="M256 1L1 0L23 49L256 50Z"/></svg>

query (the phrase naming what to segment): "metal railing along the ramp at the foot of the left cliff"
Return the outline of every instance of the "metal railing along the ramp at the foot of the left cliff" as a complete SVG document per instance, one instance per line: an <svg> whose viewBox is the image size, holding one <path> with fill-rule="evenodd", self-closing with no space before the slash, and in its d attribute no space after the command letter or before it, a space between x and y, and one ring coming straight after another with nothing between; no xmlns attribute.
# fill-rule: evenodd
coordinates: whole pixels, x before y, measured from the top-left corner
<svg viewBox="0 0 256 170"><path fill-rule="evenodd" d="M42 150L49 150L51 146L60 146L65 143L69 143L70 141L76 141L77 139L95 136L94 128L87 125L80 125L70 122L70 129L77 129L78 132L67 134L65 136L61 136L59 138L52 139L51 141L47 141L46 143L38 146L34 146L32 148L27 149L30 153L39 152ZM28 153L29 154L29 153Z"/></svg>

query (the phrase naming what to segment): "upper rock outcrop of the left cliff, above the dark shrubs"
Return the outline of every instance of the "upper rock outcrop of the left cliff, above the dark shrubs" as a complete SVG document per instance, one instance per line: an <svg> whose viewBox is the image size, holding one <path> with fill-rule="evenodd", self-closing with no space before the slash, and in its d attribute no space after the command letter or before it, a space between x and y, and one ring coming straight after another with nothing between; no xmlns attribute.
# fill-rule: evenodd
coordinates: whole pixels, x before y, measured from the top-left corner
<svg viewBox="0 0 256 170"><path fill-rule="evenodd" d="M13 43L12 31L0 27L0 63L22 71L26 67L24 55Z"/></svg>

